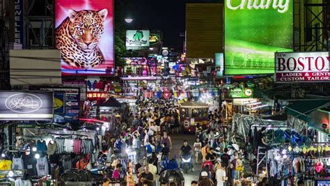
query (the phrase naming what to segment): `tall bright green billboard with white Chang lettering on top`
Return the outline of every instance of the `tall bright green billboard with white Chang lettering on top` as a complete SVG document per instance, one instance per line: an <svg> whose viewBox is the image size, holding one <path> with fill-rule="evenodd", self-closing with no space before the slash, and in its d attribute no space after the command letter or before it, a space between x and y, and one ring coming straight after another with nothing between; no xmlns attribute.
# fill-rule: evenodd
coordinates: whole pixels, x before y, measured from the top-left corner
<svg viewBox="0 0 330 186"><path fill-rule="evenodd" d="M274 74L292 52L293 0L225 0L225 75Z"/></svg>

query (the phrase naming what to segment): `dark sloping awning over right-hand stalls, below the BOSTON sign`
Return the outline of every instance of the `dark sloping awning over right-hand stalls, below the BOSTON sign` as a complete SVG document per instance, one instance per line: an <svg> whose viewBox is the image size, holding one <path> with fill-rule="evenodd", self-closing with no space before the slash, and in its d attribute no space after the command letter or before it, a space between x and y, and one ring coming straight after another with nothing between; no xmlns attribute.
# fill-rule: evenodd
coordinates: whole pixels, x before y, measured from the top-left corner
<svg viewBox="0 0 330 186"><path fill-rule="evenodd" d="M311 118L308 117L308 114L329 105L330 100L301 100L285 107L285 113L308 122L311 120Z"/></svg>

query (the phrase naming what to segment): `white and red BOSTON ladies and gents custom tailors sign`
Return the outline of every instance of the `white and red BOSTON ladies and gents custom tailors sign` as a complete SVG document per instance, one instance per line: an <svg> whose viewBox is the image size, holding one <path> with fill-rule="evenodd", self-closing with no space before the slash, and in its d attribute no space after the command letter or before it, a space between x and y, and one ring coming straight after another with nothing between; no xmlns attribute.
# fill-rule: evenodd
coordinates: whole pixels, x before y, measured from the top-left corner
<svg viewBox="0 0 330 186"><path fill-rule="evenodd" d="M275 53L275 82L330 82L328 52Z"/></svg>

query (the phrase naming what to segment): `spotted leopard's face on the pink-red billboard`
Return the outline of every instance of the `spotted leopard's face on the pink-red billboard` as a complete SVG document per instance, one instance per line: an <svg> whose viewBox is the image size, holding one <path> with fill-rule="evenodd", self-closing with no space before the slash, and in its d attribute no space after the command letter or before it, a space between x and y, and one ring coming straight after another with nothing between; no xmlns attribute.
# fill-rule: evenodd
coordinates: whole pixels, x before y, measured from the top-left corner
<svg viewBox="0 0 330 186"><path fill-rule="evenodd" d="M107 17L108 10L69 10L70 35L84 52L91 52L104 32L104 20Z"/></svg>

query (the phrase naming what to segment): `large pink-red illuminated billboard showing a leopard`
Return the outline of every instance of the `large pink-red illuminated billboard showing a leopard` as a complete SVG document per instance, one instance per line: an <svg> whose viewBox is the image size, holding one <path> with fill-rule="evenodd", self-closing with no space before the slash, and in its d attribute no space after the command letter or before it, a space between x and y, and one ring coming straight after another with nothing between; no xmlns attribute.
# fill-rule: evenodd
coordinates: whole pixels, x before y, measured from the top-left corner
<svg viewBox="0 0 330 186"><path fill-rule="evenodd" d="M62 75L112 75L113 0L55 0Z"/></svg>

